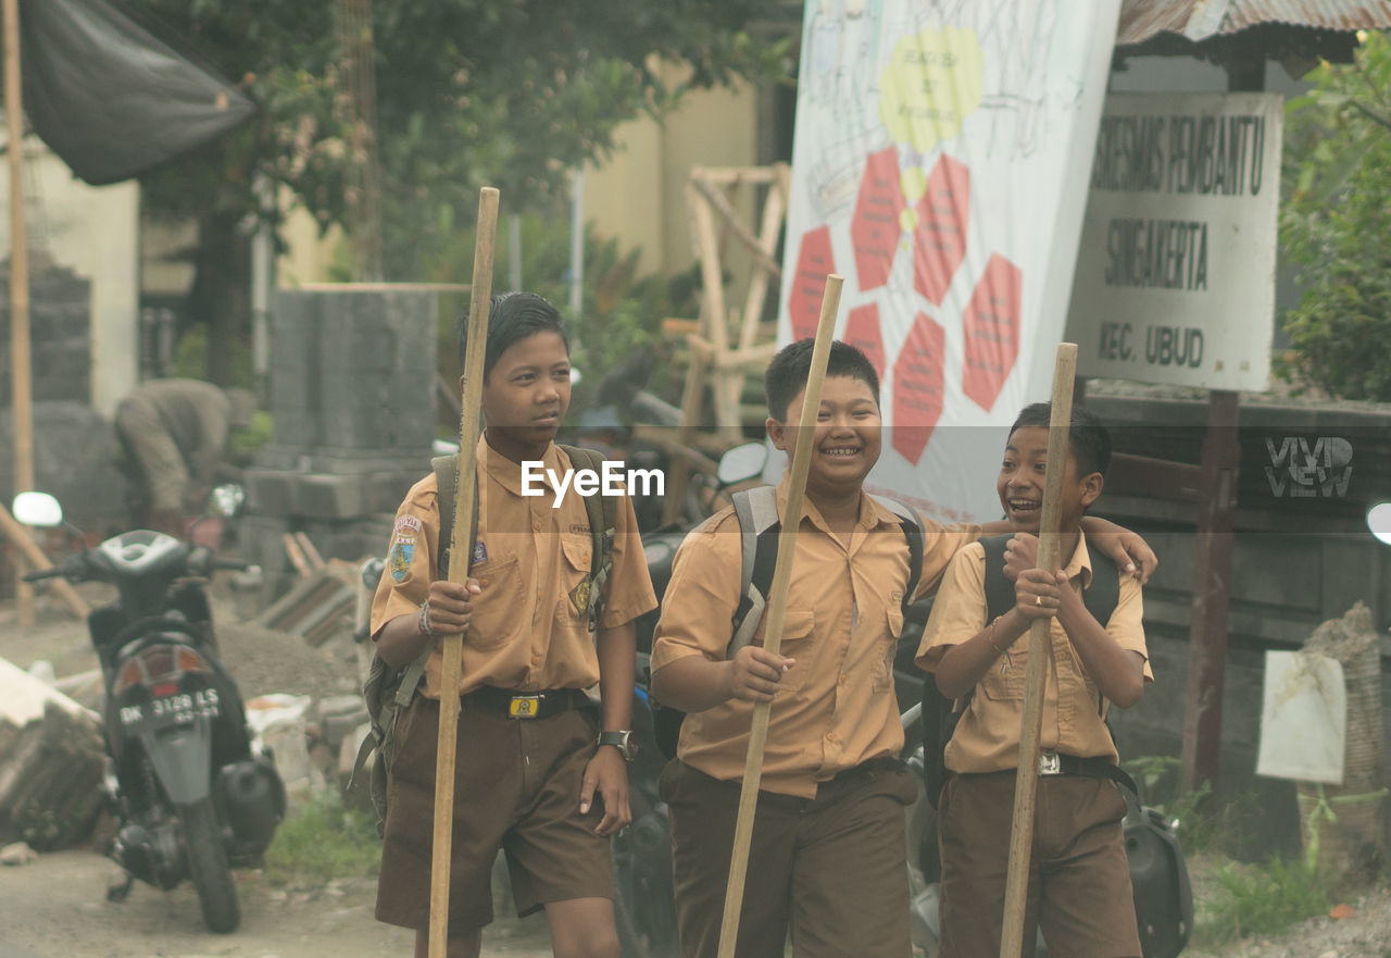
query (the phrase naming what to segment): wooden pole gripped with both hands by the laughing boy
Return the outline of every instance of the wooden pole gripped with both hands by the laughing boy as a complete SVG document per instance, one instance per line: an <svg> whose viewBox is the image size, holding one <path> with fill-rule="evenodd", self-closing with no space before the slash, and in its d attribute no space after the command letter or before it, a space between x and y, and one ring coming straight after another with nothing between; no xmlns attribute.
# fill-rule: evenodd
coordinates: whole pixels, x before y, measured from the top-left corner
<svg viewBox="0 0 1391 958"><path fill-rule="evenodd" d="M1047 475L1043 478L1043 515L1039 522L1038 567L1056 572L1063 473L1067 471L1068 429L1072 422L1072 379L1077 344L1059 343L1053 366L1053 409L1047 430ZM1010 826L1010 865L1004 881L1004 923L1000 958L1018 958L1024 944L1024 908L1029 890L1029 854L1034 845L1034 805L1038 798L1039 728L1043 724L1043 680L1052 657L1052 618L1029 624L1028 668L1024 673L1024 718L1020 724L1020 764L1014 776L1014 820Z"/></svg>

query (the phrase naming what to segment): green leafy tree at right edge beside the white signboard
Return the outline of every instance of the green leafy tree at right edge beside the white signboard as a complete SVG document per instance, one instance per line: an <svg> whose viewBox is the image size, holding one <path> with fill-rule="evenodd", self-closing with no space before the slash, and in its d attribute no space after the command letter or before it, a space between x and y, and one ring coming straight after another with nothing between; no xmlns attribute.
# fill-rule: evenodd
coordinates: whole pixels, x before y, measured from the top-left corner
<svg viewBox="0 0 1391 958"><path fill-rule="evenodd" d="M1285 110L1280 241L1303 285L1277 369L1352 400L1391 401L1391 42L1323 64Z"/></svg>

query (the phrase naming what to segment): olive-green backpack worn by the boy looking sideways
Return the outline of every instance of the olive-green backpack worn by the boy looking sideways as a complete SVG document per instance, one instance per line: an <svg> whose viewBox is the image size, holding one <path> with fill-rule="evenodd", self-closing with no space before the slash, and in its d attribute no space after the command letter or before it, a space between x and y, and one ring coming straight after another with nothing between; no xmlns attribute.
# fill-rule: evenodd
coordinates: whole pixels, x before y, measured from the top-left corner
<svg viewBox="0 0 1391 958"><path fill-rule="evenodd" d="M576 469L593 469L600 472L604 468L604 455L595 450L574 446L561 446L570 457L570 464ZM440 575L447 575L449 570L449 544L453 539L453 510L458 498L459 457L440 455L430 461L440 486L440 542L435 550L435 570ZM469 529L466 542L477 539L477 489L474 489L474 521ZM588 620L590 632L598 628L600 613L606 597L609 570L613 565L613 536L618 529L618 498L613 496L586 496L584 511L590 521L590 544L593 547L590 560L590 603ZM410 705L424 674L426 661L434 650L431 643L419 659L405 666L392 667L383 661L381 656L373 654L371 666L367 670L367 681L363 682L362 695L367 703L367 720L371 725L362 746L357 749L357 760L353 763L349 791L362 787L363 769L367 770L367 796L377 816L377 834L383 833L387 824L387 774L391 770L391 760L396 745L396 718Z"/></svg>

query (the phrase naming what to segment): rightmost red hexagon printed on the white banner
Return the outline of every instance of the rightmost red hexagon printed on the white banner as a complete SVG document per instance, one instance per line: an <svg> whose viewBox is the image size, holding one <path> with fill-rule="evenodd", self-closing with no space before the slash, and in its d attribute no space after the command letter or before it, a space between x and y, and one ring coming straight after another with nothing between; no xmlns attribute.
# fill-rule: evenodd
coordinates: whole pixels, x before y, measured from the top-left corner
<svg viewBox="0 0 1391 958"><path fill-rule="evenodd" d="M986 412L1020 356L1020 312L1024 273L1000 253L992 253L985 276L961 313L961 391Z"/></svg>

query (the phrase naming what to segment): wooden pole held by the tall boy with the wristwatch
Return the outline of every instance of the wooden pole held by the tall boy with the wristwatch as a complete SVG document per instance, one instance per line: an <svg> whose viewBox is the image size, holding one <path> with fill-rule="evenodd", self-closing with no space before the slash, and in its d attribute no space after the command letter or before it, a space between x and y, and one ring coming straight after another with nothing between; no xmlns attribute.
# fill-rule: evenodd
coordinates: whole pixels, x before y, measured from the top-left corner
<svg viewBox="0 0 1391 958"><path fill-rule="evenodd" d="M473 246L473 294L463 365L463 412L459 415L459 479L449 540L449 581L469 578L474 528L479 427L483 421L483 359L488 340L488 301L492 298L492 244L498 231L498 191L484 187L479 196L479 230ZM440 739L435 755L434 848L430 863L430 958L445 958L449 941L449 852L453 845L453 769L459 741L459 680L463 674L463 635L441 639Z"/></svg>

